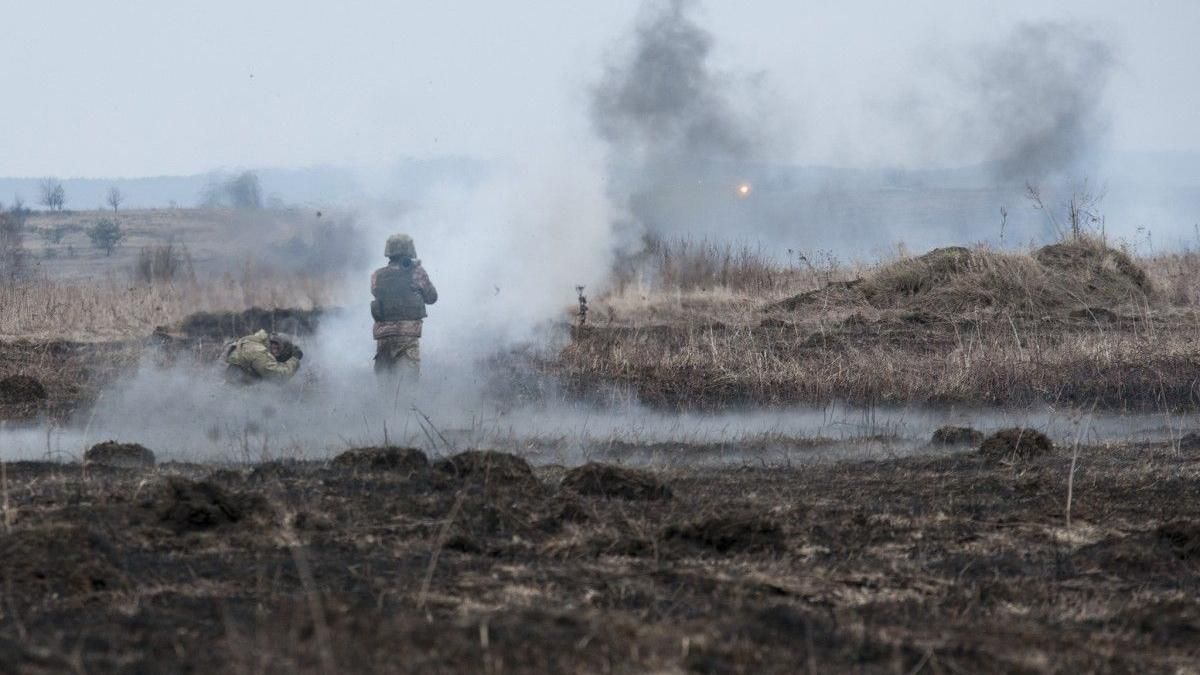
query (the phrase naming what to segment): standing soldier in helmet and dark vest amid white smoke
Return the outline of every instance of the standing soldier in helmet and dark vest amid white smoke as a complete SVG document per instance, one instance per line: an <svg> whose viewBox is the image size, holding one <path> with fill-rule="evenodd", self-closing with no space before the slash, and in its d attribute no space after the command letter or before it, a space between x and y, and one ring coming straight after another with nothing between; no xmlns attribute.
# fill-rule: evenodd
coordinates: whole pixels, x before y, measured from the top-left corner
<svg viewBox="0 0 1200 675"><path fill-rule="evenodd" d="M371 316L376 319L376 372L401 371L415 380L421 371L421 319L425 305L438 301L438 292L416 259L416 246L407 234L392 234L384 247L388 267L371 275Z"/></svg>

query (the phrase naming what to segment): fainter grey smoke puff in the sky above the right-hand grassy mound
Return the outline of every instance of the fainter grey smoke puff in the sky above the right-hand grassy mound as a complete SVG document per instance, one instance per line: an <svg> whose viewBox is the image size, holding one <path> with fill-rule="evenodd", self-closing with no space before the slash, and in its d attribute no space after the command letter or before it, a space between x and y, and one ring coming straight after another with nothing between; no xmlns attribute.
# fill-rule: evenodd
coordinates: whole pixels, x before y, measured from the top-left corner
<svg viewBox="0 0 1200 675"><path fill-rule="evenodd" d="M983 48L968 70L965 131L988 144L995 178L1075 178L1097 160L1115 64L1112 46L1076 24L1020 24Z"/></svg>

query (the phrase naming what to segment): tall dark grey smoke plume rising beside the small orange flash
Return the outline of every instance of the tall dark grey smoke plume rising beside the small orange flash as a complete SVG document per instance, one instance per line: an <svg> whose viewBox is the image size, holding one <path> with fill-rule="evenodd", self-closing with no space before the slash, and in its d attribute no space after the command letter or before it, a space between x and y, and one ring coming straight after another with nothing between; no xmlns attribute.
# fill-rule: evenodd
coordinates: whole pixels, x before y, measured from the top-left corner
<svg viewBox="0 0 1200 675"><path fill-rule="evenodd" d="M624 211L622 252L643 234L727 234L748 221L737 189L768 145L755 78L716 72L713 36L692 18L696 4L647 6L631 49L592 91L592 123L607 144L610 192Z"/></svg>

